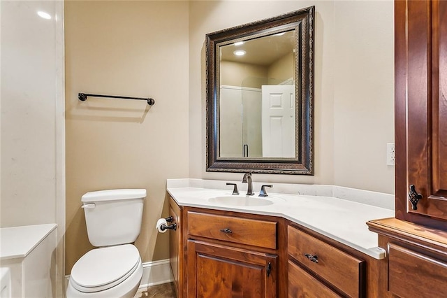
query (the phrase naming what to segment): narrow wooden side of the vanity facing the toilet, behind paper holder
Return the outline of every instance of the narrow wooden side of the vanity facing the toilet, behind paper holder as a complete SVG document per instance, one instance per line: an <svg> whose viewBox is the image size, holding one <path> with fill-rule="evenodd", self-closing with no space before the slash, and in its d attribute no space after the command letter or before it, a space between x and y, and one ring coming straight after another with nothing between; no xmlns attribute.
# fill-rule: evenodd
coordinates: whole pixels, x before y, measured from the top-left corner
<svg viewBox="0 0 447 298"><path fill-rule="evenodd" d="M180 222L180 208L173 199L170 199L170 212L169 215L173 217L173 222L177 225L177 229L169 230L169 261L170 269L173 272L175 292L177 297L182 297L179 285L182 285L182 265L183 265L183 250L182 250L182 226Z"/></svg>

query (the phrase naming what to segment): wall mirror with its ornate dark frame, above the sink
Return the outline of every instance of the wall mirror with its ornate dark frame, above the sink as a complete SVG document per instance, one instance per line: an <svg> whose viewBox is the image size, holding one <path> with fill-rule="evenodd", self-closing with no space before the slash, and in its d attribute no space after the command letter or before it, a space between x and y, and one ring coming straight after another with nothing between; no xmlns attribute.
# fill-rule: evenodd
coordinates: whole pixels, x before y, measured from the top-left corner
<svg viewBox="0 0 447 298"><path fill-rule="evenodd" d="M206 35L207 171L313 175L314 6Z"/></svg>

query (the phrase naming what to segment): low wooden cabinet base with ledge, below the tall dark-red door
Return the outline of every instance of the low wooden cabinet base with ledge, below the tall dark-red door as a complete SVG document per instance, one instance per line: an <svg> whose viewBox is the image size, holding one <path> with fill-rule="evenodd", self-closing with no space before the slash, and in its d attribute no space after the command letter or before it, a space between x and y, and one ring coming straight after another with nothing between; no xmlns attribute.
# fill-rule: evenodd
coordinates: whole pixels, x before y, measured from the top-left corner
<svg viewBox="0 0 447 298"><path fill-rule="evenodd" d="M368 222L387 250L380 271L389 297L446 297L447 232L388 218Z"/></svg>

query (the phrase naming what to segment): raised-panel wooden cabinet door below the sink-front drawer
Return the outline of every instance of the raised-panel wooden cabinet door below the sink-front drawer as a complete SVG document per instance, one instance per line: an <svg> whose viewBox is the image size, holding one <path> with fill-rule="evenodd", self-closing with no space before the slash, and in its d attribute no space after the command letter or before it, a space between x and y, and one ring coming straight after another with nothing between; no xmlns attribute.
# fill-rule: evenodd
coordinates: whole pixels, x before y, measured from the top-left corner
<svg viewBox="0 0 447 298"><path fill-rule="evenodd" d="M277 297L277 256L188 241L188 297Z"/></svg>

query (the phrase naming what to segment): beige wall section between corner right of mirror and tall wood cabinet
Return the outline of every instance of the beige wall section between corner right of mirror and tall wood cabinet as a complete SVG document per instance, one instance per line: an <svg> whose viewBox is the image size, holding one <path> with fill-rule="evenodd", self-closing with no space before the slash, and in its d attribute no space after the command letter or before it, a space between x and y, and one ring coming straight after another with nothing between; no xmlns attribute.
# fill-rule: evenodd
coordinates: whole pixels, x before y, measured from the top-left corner
<svg viewBox="0 0 447 298"><path fill-rule="evenodd" d="M393 13L393 1L335 5L336 185L394 193L394 166L386 165L386 143L394 142Z"/></svg>

